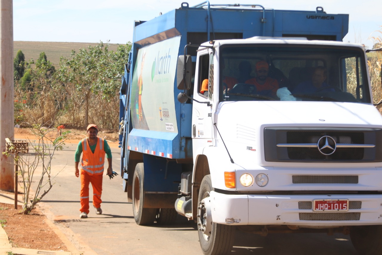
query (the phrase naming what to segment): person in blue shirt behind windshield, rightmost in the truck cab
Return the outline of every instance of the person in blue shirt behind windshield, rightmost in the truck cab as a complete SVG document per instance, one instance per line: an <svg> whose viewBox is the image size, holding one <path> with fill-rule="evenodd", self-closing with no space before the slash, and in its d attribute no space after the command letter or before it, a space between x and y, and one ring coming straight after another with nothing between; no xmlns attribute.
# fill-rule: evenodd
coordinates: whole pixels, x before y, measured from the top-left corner
<svg viewBox="0 0 382 255"><path fill-rule="evenodd" d="M301 82L292 91L292 94L312 94L319 91L334 91L333 88L327 88L329 85L325 82L327 77L326 68L323 66L318 66L314 69L312 80L306 82Z"/></svg>

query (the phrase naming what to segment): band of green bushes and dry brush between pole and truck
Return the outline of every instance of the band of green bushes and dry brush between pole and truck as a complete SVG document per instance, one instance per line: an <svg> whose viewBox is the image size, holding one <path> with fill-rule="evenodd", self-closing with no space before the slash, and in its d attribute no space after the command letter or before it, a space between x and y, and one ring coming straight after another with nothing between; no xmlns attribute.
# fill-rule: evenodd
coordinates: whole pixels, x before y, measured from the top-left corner
<svg viewBox="0 0 382 255"><path fill-rule="evenodd" d="M84 126L84 116L89 116L103 128L116 129L118 92L131 44L119 45L116 51L109 46L100 42L73 50L70 57L61 57L57 69L45 52L36 61L24 62L21 78L15 73L16 123Z"/></svg>

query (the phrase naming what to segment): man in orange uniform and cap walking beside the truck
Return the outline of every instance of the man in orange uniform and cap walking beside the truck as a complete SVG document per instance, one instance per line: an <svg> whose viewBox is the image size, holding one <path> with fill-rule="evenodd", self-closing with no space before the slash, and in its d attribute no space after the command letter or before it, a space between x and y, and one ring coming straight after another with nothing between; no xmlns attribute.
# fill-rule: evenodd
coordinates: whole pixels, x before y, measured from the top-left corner
<svg viewBox="0 0 382 255"><path fill-rule="evenodd" d="M76 168L76 177L79 173L79 159L81 159L81 214L80 218L87 218L89 214L89 183L93 188L93 206L96 214L102 214L101 195L102 195L102 175L104 173L105 154L107 155L107 175L113 175L112 152L107 141L98 137L98 127L95 124L87 126L87 138L78 143L76 153L74 154L74 165ZM111 178L111 177L110 177Z"/></svg>

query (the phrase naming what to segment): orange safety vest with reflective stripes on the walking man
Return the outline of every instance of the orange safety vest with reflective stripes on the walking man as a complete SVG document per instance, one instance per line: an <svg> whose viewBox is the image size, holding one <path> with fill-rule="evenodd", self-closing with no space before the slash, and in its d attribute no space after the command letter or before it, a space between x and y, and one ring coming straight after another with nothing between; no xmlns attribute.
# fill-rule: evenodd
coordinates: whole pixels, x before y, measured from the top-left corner
<svg viewBox="0 0 382 255"><path fill-rule="evenodd" d="M104 173L105 164L105 150L104 139L98 138L98 144L92 153L87 138L81 141L82 143L82 159L81 169L86 171L89 175L102 175Z"/></svg>

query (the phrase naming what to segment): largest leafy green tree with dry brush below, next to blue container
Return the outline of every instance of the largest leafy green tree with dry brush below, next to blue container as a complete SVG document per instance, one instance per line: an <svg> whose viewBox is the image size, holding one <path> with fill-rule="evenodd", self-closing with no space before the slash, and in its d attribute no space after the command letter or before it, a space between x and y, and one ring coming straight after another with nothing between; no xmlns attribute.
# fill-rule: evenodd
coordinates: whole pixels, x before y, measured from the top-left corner
<svg viewBox="0 0 382 255"><path fill-rule="evenodd" d="M120 45L116 52L108 47L100 42L60 60L57 78L65 87L75 126L84 126L84 115L103 127L118 126L118 91L131 44Z"/></svg>

